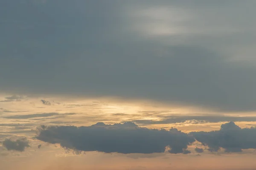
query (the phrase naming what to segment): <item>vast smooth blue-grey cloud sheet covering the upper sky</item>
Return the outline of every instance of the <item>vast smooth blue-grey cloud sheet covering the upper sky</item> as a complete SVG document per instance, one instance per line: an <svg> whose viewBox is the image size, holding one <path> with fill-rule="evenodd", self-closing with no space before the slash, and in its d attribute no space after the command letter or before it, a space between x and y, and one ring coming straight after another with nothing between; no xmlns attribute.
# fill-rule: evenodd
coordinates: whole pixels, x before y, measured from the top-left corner
<svg viewBox="0 0 256 170"><path fill-rule="evenodd" d="M255 62L229 60L234 50L241 58L255 54L256 1L36 2L0 2L1 91L256 110ZM167 8L167 23L157 23L166 17L159 7ZM137 16L145 9L155 16ZM179 22L172 9L188 12L188 20ZM151 36L148 23L185 31Z"/></svg>

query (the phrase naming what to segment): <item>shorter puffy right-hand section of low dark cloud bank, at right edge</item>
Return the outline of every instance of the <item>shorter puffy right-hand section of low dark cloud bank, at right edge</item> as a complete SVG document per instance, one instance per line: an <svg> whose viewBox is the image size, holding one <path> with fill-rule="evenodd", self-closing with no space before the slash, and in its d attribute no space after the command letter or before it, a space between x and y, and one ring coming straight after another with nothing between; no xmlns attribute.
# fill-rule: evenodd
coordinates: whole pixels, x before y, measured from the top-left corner
<svg viewBox="0 0 256 170"><path fill-rule="evenodd" d="M241 152L242 149L256 149L256 128L241 129L234 122L221 125L221 129L211 132L192 132L195 139L209 147L209 151Z"/></svg>

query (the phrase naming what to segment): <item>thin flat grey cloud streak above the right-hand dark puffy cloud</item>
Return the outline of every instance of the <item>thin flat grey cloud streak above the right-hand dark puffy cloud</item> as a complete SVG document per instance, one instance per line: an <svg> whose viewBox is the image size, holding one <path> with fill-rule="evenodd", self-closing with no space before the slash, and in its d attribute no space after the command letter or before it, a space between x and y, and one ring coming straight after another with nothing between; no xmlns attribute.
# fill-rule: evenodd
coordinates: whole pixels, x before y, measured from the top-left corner
<svg viewBox="0 0 256 170"><path fill-rule="evenodd" d="M145 115L146 116L146 115ZM161 116L160 116L161 117ZM217 123L217 122L256 122L255 116L223 116L223 115L174 115L163 116L162 120L134 120L140 125L172 124L172 123Z"/></svg>

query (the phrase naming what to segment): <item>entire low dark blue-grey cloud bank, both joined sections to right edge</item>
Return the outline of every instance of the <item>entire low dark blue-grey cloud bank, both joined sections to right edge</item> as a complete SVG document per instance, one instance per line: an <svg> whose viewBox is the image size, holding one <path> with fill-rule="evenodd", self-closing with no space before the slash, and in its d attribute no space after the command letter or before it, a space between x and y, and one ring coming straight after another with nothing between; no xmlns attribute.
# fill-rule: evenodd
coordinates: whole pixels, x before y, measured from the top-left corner
<svg viewBox="0 0 256 170"><path fill-rule="evenodd" d="M105 153L160 153L170 147L170 153L190 153L187 146L195 139L209 147L209 151L241 152L242 149L256 149L256 128L241 129L233 122L221 125L212 132L182 133L175 128L155 130L138 127L127 122L105 125L97 123L89 127L42 126L37 139L52 144L59 143L64 148ZM195 148L203 153L202 148Z"/></svg>

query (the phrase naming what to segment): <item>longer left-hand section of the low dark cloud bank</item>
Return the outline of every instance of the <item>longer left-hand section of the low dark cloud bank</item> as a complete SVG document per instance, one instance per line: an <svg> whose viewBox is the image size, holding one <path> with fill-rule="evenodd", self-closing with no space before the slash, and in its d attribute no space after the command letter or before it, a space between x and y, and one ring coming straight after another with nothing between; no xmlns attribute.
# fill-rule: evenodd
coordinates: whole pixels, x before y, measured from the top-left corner
<svg viewBox="0 0 256 170"><path fill-rule="evenodd" d="M41 127L37 139L64 148L105 153L183 153L195 139L175 128L156 130L138 127L134 123L92 126ZM185 151L187 153L187 151Z"/></svg>

